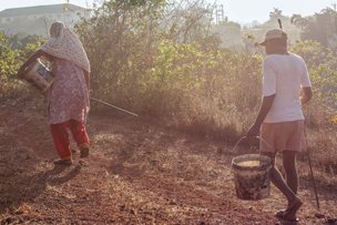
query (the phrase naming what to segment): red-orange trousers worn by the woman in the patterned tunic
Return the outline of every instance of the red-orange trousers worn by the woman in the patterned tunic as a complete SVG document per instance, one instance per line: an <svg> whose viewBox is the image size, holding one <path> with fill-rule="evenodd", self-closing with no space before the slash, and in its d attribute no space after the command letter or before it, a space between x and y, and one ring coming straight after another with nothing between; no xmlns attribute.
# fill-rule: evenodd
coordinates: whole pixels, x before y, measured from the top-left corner
<svg viewBox="0 0 337 225"><path fill-rule="evenodd" d="M89 147L89 136L84 123L75 120L69 120L63 123L50 124L54 146L62 160L71 157L68 129L80 149L84 146Z"/></svg>

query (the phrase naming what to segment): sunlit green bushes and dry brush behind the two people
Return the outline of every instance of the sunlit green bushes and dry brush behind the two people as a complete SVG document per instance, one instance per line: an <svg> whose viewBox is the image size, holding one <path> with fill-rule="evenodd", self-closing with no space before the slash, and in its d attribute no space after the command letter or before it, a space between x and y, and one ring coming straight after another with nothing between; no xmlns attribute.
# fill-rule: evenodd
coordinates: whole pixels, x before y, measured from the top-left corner
<svg viewBox="0 0 337 225"><path fill-rule="evenodd" d="M258 110L263 54L221 48L208 32L210 11L203 3L112 0L94 8L75 29L92 65L91 94L203 131L243 132ZM2 33L0 41L4 93L16 90L17 69L43 40ZM310 123L329 125L337 109L336 53L317 41L299 41L292 51L306 60L312 75Z"/></svg>

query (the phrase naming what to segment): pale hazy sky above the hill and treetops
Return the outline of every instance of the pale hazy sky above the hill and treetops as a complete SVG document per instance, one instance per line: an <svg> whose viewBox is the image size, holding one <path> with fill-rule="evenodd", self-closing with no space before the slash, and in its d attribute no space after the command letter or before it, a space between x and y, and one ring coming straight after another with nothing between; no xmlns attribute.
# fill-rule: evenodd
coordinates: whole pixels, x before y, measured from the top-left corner
<svg viewBox="0 0 337 225"><path fill-rule="evenodd" d="M81 7L92 6L98 0L70 0L70 3ZM100 1L100 0L99 0ZM285 16L310 16L326 7L337 3L337 0L207 0L224 6L225 16L229 20L248 23L253 20L264 22L270 11L277 8ZM0 0L0 11L8 8L30 7L41 4L64 3L65 0Z"/></svg>

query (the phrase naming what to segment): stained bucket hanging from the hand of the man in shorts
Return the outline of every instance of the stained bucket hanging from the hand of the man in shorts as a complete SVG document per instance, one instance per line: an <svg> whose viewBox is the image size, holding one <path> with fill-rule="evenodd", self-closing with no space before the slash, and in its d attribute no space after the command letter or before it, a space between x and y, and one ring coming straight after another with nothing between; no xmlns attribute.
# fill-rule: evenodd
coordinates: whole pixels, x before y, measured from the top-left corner
<svg viewBox="0 0 337 225"><path fill-rule="evenodd" d="M241 200L262 200L270 194L272 160L266 155L245 154L232 160L236 195Z"/></svg>

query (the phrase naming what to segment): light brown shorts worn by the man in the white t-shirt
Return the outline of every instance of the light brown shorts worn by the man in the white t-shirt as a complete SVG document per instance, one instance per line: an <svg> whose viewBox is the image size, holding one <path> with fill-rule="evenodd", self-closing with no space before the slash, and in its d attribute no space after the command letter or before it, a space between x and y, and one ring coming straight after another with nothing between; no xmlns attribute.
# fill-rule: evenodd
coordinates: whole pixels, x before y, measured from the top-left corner
<svg viewBox="0 0 337 225"><path fill-rule="evenodd" d="M264 123L261 127L261 152L299 152L305 147L304 121Z"/></svg>

